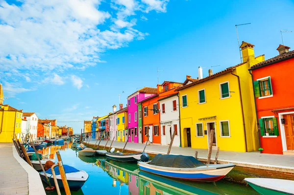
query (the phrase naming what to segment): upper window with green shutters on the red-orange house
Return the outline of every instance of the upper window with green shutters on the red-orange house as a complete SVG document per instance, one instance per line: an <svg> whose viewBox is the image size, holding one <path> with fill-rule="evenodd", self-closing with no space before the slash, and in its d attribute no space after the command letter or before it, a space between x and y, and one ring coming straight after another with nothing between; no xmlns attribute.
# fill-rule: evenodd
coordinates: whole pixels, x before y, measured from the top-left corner
<svg viewBox="0 0 294 195"><path fill-rule="evenodd" d="M270 77L258 79L253 82L255 97L266 97L272 95Z"/></svg>

